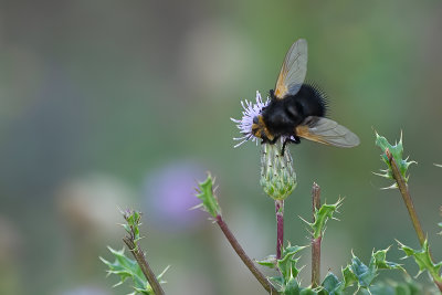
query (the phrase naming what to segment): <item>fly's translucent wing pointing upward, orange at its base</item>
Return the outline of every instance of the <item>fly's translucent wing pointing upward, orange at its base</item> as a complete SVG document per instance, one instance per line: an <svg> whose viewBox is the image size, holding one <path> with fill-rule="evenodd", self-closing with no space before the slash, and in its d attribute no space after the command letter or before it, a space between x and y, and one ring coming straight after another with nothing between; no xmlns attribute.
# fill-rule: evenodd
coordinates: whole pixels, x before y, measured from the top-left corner
<svg viewBox="0 0 442 295"><path fill-rule="evenodd" d="M285 95L295 95L303 85L307 73L307 41L299 39L285 55L280 76L276 81L275 96L281 99Z"/></svg>

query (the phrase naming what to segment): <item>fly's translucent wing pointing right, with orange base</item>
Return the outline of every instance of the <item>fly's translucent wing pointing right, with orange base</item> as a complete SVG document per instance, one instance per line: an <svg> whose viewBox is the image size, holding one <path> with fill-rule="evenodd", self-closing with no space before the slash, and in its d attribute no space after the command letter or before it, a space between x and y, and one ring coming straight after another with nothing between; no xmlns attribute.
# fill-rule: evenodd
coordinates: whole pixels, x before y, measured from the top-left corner
<svg viewBox="0 0 442 295"><path fill-rule="evenodd" d="M356 147L359 137L346 127L324 117L307 117L296 127L296 135L308 140L330 145L335 147Z"/></svg>

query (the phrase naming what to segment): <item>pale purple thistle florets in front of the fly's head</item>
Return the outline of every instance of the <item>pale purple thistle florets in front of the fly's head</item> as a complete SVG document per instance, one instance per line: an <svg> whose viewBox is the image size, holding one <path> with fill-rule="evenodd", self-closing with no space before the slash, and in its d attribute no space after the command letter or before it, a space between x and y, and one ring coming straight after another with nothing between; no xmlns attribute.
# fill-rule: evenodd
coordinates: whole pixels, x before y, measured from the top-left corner
<svg viewBox="0 0 442 295"><path fill-rule="evenodd" d="M240 141L236 144L234 147L239 147L245 141L252 140L257 144L257 137L255 137L252 134L252 124L253 124L253 118L261 115L262 109L267 106L270 103L270 99L263 102L260 92L256 91L256 103L249 102L248 99L241 102L242 108L244 109L242 112L242 118L241 119L234 119L230 118L232 122L236 123L238 129L240 129L241 134L243 135L242 137L236 137L233 138L233 140Z"/></svg>

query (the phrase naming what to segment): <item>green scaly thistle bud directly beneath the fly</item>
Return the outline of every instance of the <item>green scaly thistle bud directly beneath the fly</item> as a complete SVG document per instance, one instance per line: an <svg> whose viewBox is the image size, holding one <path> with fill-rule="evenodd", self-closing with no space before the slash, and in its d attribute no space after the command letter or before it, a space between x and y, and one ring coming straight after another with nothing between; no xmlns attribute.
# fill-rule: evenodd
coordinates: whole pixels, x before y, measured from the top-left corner
<svg viewBox="0 0 442 295"><path fill-rule="evenodd" d="M281 145L262 145L261 180L264 192L274 200L284 200L295 189L296 173L288 150L281 155Z"/></svg>

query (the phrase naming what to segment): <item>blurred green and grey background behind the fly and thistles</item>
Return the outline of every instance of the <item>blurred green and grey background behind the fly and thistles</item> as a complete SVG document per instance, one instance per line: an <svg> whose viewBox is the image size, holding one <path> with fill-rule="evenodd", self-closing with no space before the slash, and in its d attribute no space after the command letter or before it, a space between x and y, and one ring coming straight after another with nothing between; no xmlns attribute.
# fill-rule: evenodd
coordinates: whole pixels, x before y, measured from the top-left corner
<svg viewBox="0 0 442 295"><path fill-rule="evenodd" d="M274 86L288 46L309 45L307 80L354 149L291 146L298 186L286 239L308 243L313 181L345 202L323 242L323 275L350 251L362 260L394 239L418 247L373 129L403 131L410 190L434 256L442 168L440 1L0 1L0 293L127 294L105 277L122 249L118 208L144 212L143 247L167 265L167 294L264 294L208 215L188 209L217 176L224 219L251 257L274 253L274 204L259 186L260 148L230 117ZM309 251L303 282L309 282ZM411 274L418 268L403 262ZM398 275L400 277L400 275ZM429 284L425 275L421 282Z"/></svg>

